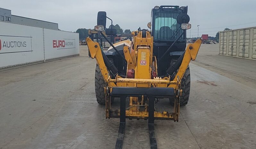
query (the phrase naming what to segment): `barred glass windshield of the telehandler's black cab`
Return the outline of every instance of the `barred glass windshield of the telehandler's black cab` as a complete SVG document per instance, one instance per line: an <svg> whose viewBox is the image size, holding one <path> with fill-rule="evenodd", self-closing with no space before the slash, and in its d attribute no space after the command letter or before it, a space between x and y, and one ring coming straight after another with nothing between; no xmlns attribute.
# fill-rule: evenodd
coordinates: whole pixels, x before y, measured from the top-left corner
<svg viewBox="0 0 256 149"><path fill-rule="evenodd" d="M180 25L177 24L177 13L170 12L156 12L154 18L154 40L160 41L174 41L181 33ZM180 40L183 40L181 37Z"/></svg>

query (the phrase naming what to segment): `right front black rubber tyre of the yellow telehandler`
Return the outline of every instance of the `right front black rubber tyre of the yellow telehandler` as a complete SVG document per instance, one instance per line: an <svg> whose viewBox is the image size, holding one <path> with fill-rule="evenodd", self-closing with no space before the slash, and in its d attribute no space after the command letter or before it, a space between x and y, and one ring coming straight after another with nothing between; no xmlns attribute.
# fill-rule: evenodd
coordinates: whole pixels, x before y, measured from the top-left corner
<svg viewBox="0 0 256 149"><path fill-rule="evenodd" d="M180 97L180 106L188 104L189 93L190 93L190 70L189 67L185 71L185 74L181 80L182 94ZM170 103L174 105L174 99L169 99Z"/></svg>

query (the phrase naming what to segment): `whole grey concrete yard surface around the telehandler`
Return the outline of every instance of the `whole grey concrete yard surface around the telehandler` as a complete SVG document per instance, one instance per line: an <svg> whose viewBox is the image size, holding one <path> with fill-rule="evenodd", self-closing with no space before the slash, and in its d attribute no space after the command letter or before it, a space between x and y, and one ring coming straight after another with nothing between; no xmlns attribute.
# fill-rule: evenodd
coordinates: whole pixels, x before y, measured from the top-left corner
<svg viewBox="0 0 256 149"><path fill-rule="evenodd" d="M0 149L115 147L119 119L105 119L96 102L96 60L87 52L0 70ZM158 148L256 148L255 64L202 45L179 122L155 121ZM168 102L158 104L168 110ZM126 122L123 148L149 148L147 121Z"/></svg>

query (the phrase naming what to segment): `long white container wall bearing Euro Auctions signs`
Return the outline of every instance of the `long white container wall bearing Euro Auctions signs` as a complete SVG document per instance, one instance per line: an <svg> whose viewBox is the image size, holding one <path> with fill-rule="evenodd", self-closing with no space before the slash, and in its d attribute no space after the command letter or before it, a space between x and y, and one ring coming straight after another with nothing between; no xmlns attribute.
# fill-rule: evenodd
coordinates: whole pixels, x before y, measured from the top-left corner
<svg viewBox="0 0 256 149"><path fill-rule="evenodd" d="M79 55L79 34L0 21L0 69Z"/></svg>

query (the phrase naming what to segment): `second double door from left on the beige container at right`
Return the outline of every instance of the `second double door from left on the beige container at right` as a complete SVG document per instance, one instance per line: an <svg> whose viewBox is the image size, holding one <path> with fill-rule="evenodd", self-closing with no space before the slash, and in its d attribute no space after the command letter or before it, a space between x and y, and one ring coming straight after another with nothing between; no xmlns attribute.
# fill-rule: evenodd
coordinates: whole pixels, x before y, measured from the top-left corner
<svg viewBox="0 0 256 149"><path fill-rule="evenodd" d="M230 31L228 34L228 55L236 56L236 34L237 31Z"/></svg>

